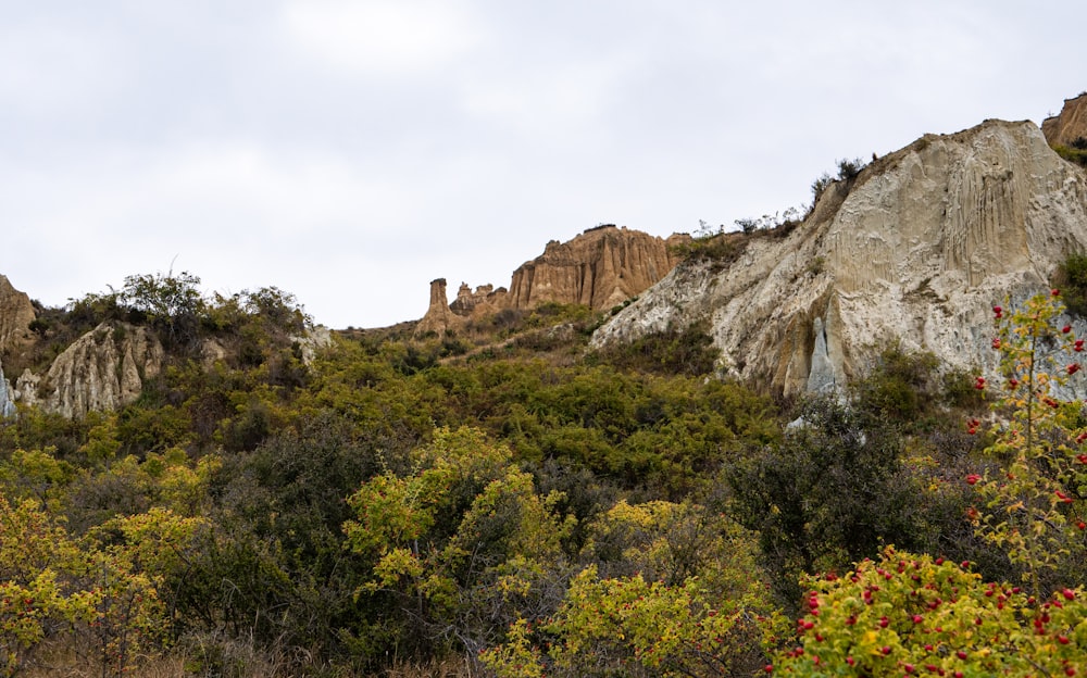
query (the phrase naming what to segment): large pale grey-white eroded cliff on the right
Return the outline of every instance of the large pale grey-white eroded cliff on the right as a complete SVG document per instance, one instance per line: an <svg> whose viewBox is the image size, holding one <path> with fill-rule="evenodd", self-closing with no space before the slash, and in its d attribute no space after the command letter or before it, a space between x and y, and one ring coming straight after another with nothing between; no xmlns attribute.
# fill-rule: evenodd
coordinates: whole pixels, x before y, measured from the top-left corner
<svg viewBox="0 0 1087 678"><path fill-rule="evenodd" d="M1087 251L1087 175L1034 124L989 121L832 185L788 236L748 237L724 267L677 267L592 343L709 318L725 375L787 393L841 385L894 342L991 368L991 305L1073 251Z"/></svg>

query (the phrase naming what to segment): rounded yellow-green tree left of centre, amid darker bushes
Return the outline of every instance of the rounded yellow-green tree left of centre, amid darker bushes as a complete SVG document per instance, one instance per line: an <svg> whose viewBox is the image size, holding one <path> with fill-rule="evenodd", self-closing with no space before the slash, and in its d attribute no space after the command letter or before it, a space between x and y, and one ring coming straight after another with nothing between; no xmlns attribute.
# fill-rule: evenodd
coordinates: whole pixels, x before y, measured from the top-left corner
<svg viewBox="0 0 1087 678"><path fill-rule="evenodd" d="M441 430L411 474L375 476L348 500L347 543L372 567L357 595L391 599L393 614L418 625L414 642L484 646L513 608L547 593L535 583L561 564L572 523L553 511L561 497L537 494L511 460L477 431Z"/></svg>

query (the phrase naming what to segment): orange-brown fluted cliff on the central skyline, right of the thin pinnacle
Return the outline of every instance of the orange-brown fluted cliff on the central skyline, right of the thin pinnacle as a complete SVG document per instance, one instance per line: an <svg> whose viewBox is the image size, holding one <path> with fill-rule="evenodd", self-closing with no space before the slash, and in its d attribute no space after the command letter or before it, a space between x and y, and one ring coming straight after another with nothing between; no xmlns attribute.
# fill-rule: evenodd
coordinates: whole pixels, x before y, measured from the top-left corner
<svg viewBox="0 0 1087 678"><path fill-rule="evenodd" d="M611 309L640 294L677 263L663 238L615 226L590 228L570 242L548 242L544 254L514 271L505 306L554 302Z"/></svg>

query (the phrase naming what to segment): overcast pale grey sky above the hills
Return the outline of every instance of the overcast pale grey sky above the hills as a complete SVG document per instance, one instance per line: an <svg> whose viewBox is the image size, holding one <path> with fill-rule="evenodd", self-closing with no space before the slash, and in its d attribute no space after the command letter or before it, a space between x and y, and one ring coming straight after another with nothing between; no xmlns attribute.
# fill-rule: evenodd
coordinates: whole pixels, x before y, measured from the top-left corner
<svg viewBox="0 0 1087 678"><path fill-rule="evenodd" d="M811 201L845 158L1087 89L1087 3L0 0L0 274L187 272L336 329L549 240Z"/></svg>

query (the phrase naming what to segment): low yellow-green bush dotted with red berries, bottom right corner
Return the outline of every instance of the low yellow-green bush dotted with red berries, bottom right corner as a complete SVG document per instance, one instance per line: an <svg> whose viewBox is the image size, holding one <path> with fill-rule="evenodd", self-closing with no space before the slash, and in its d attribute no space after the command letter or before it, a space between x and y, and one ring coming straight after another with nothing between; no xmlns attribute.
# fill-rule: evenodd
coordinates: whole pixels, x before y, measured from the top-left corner
<svg viewBox="0 0 1087 678"><path fill-rule="evenodd" d="M804 581L799 642L779 676L1074 676L1087 668L1083 589L1045 599L985 583L969 563L886 548L840 577Z"/></svg>

